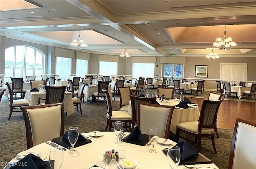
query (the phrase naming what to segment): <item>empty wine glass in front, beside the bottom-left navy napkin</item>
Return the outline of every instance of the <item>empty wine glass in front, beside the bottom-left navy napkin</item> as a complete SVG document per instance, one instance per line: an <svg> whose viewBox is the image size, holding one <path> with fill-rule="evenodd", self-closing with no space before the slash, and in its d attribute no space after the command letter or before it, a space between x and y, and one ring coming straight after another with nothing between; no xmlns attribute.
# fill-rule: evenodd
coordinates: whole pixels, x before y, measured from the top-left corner
<svg viewBox="0 0 256 169"><path fill-rule="evenodd" d="M60 169L63 163L63 148L52 148L50 149L49 163L51 169Z"/></svg>

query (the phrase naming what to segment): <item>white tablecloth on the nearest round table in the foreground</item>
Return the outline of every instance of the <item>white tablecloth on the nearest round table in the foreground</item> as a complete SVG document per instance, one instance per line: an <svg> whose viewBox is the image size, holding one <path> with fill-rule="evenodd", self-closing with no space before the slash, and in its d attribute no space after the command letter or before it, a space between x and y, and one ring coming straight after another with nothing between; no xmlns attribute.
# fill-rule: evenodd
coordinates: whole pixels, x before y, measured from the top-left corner
<svg viewBox="0 0 256 169"><path fill-rule="evenodd" d="M79 129L78 129L79 130ZM82 131L79 131L82 133ZM167 148L168 145L160 145L156 143L154 146L157 153L148 152L151 149L151 145L135 145L130 143L122 143L121 145L115 144L116 134L114 132L102 132L104 135L92 138L92 142L75 149L78 151L77 155L69 155L68 149L64 151L64 162L61 169L89 169L90 167L97 165L105 169L109 168L109 165L103 162L102 155L105 151L114 149L115 151L125 150L126 159L134 159L138 163L139 169L170 169L170 165L167 161L166 155L161 151L163 148ZM126 133L126 136L129 133ZM84 134L83 134L84 135ZM88 134L85 134L88 136ZM174 143L175 144L175 143ZM173 145L174 145L173 144ZM40 152L40 158L47 157L45 161L49 160L51 145L41 143L36 145L27 151ZM72 157L73 156L73 157ZM11 162L18 161L16 157ZM189 165L190 166L190 165ZM191 165L192 166L192 165ZM218 167L211 164L196 164L196 167ZM179 165L177 169L187 169L186 167Z"/></svg>

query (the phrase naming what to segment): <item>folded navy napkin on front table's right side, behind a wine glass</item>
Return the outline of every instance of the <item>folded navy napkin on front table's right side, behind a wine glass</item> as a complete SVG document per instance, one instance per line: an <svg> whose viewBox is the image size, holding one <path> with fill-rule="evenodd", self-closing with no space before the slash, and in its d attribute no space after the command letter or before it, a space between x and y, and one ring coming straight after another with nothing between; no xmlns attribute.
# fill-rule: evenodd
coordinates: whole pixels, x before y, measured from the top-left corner
<svg viewBox="0 0 256 169"><path fill-rule="evenodd" d="M176 144L176 146L180 147L180 156L182 161L190 157L194 157L199 153L196 148L186 141L180 141Z"/></svg>

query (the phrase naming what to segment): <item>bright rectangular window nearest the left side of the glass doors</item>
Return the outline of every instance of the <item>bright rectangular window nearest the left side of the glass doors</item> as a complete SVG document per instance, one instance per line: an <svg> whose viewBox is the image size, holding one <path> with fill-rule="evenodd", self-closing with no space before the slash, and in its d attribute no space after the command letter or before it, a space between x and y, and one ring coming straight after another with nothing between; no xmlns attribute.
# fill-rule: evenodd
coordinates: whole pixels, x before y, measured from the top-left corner
<svg viewBox="0 0 256 169"><path fill-rule="evenodd" d="M132 78L154 77L154 63L133 63Z"/></svg>

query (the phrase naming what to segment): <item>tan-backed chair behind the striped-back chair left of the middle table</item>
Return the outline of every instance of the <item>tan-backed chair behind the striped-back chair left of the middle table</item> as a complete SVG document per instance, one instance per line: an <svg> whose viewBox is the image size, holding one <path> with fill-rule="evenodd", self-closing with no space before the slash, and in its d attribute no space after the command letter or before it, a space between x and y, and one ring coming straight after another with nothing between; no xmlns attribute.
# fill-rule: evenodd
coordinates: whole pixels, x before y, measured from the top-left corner
<svg viewBox="0 0 256 169"><path fill-rule="evenodd" d="M119 87L119 96L120 96L120 110L128 112L128 105L130 101L130 86Z"/></svg>

